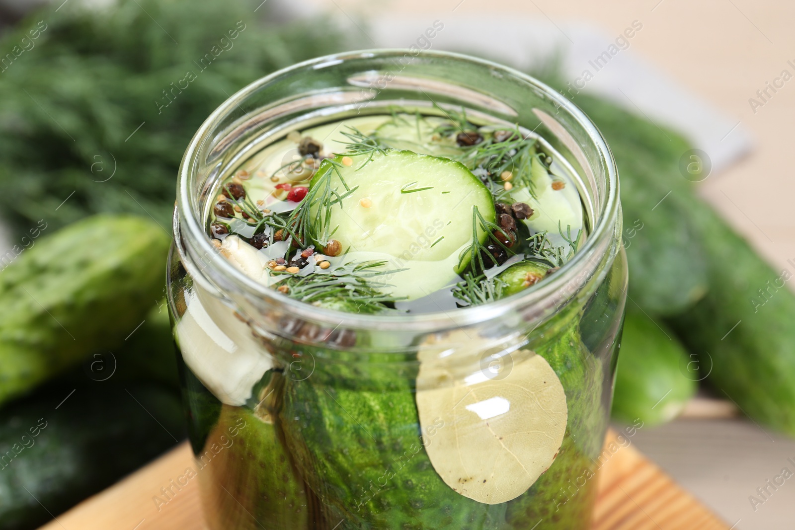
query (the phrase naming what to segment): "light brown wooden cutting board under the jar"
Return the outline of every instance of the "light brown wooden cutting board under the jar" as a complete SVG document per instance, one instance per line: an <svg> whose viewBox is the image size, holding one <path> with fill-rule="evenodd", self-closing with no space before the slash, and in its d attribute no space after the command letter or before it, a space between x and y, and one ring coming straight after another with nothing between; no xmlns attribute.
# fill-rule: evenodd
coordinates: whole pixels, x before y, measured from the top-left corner
<svg viewBox="0 0 795 530"><path fill-rule="evenodd" d="M612 451L599 471L592 530L729 530L634 447L615 442L608 433L605 447ZM153 501L189 466L186 442L40 530L204 530L196 480L159 509Z"/></svg>

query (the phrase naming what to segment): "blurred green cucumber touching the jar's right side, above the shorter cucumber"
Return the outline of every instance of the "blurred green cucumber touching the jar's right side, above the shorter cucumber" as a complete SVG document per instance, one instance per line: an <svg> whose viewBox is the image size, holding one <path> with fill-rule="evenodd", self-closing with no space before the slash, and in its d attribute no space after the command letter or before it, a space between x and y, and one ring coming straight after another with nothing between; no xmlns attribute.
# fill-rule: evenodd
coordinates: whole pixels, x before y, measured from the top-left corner
<svg viewBox="0 0 795 530"><path fill-rule="evenodd" d="M692 189L678 168L690 145L603 99L574 101L599 126L619 167L629 296L650 313L676 315L708 288L704 242L692 221L692 208L706 206L687 202Z"/></svg>

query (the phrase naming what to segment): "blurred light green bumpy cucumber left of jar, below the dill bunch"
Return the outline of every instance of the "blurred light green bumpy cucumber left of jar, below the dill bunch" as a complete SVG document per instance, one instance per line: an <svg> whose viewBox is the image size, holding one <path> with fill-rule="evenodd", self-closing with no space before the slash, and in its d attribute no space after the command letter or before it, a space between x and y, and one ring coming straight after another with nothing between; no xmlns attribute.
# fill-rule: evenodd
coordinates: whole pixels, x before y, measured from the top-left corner
<svg viewBox="0 0 795 530"><path fill-rule="evenodd" d="M37 239L0 273L0 404L119 346L162 295L170 237L95 215Z"/></svg>

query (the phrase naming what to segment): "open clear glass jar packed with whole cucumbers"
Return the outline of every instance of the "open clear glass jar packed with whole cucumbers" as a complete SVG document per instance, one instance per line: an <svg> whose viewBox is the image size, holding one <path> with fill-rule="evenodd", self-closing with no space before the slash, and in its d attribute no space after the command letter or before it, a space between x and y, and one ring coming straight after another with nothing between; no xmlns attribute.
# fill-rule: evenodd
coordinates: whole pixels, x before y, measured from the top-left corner
<svg viewBox="0 0 795 530"><path fill-rule="evenodd" d="M437 114L463 107L540 133L579 176L589 230L575 256L491 304L359 315L266 288L211 246L212 190L255 145L299 123L394 104ZM188 478L200 484L207 527L589 528L626 296L621 229L615 162L599 131L556 91L510 68L452 53L349 52L232 96L184 155L169 261L196 455ZM536 451L548 433L539 431L538 381L519 374L541 358L560 381L565 416L549 469L532 474L514 453ZM473 420L475 389L486 388L505 406ZM518 490L507 501L476 500L469 478L456 485L442 469L451 455L451 466L477 467L478 481L485 469L483 484Z"/></svg>

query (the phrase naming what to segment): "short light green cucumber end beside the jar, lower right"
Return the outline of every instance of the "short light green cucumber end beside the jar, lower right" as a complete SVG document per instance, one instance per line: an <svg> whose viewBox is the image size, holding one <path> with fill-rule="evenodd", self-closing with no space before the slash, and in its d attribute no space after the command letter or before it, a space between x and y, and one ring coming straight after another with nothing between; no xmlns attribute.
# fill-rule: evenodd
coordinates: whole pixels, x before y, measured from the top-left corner
<svg viewBox="0 0 795 530"><path fill-rule="evenodd" d="M615 420L662 424L673 420L696 393L695 378L685 375L687 351L673 331L658 325L665 326L639 311L626 313L613 393Z"/></svg>

